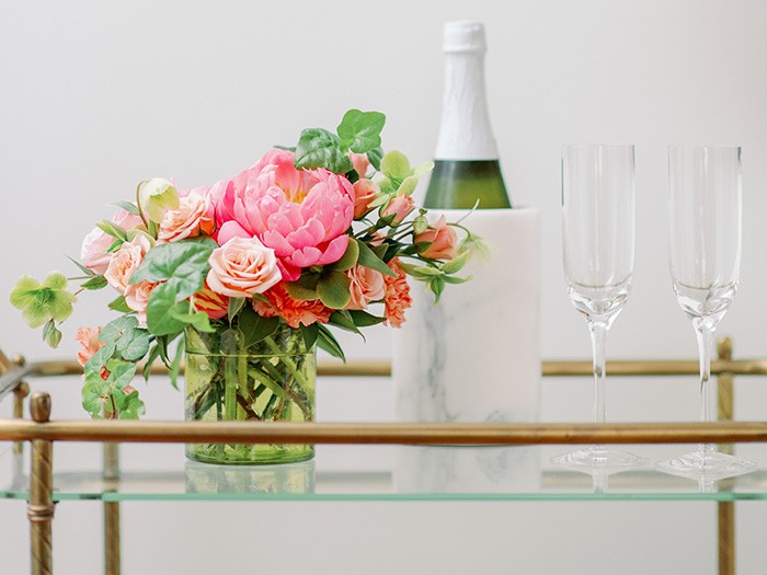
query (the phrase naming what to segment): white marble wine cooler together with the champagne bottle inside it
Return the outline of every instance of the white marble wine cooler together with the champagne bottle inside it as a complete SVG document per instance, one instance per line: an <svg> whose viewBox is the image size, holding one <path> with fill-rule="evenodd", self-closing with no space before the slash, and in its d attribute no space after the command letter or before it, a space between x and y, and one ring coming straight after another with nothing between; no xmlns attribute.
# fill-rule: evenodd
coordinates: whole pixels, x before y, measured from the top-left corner
<svg viewBox="0 0 767 575"><path fill-rule="evenodd" d="M511 209L485 103L482 24L447 23L444 48L444 110L424 205L430 220L462 219L488 253L472 257L461 271L472 279L437 304L411 284L412 309L394 338L396 417L530 422L540 377L540 215Z"/></svg>

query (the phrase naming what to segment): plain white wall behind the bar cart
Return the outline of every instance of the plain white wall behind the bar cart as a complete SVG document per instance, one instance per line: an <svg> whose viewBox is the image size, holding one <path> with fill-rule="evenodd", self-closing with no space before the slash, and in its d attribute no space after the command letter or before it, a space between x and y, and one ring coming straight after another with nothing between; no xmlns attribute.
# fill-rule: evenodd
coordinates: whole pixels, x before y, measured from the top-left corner
<svg viewBox="0 0 767 575"><path fill-rule="evenodd" d="M65 254L77 256L105 206L145 177L211 183L302 127L334 127L348 107L387 113L385 145L431 158L442 24L456 19L486 25L506 183L543 215L543 356L589 354L561 272L559 149L573 141L637 145L636 281L608 344L626 358L696 353L666 269L665 147L743 146L742 287L721 331L736 355L766 355L767 3L757 0L2 2L0 348L71 356L76 327L98 321L107 295L82 298L51 354L8 294L23 273L73 269ZM348 355L387 356L389 336L346 340ZM739 416L766 419L759 386L742 389ZM610 390L613 419L697 417L694 381ZM325 393L325 418L389 417L387 387ZM587 421L589 393L586 382L551 383L543 418ZM54 415L80 416L78 394L71 380L59 386ZM180 412L179 394L156 386L147 399L151 416ZM757 573L767 511L739 514L741 573ZM706 574L713 525L713 506L695 503L131 504L124 572ZM99 529L95 504L59 506L57 573L100 571ZM23 505L0 502L0 572L27 571L26 541Z"/></svg>

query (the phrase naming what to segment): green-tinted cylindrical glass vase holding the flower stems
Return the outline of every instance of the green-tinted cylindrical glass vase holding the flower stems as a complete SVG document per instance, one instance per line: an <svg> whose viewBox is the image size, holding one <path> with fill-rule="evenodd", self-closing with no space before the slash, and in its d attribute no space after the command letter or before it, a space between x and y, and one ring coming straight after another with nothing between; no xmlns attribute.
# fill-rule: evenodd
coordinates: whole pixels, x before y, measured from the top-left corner
<svg viewBox="0 0 767 575"><path fill-rule="evenodd" d="M257 343L239 330L186 331L186 419L310 422L314 418L314 348L281 326ZM187 444L186 457L222 464L291 463L312 445Z"/></svg>

